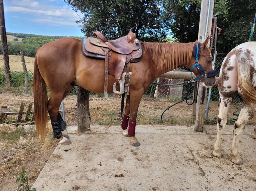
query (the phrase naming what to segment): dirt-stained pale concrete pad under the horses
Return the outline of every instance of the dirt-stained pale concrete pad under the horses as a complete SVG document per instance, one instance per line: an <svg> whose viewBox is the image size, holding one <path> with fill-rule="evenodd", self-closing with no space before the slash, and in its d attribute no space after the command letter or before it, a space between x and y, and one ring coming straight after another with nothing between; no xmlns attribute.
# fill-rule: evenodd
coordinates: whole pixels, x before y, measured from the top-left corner
<svg viewBox="0 0 256 191"><path fill-rule="evenodd" d="M71 145L58 145L33 187L37 191L256 190L253 126L240 137L243 165L230 160L233 125L222 136L221 158L212 155L216 126L195 132L187 126L136 126L141 146L129 144L120 126L91 125Z"/></svg>

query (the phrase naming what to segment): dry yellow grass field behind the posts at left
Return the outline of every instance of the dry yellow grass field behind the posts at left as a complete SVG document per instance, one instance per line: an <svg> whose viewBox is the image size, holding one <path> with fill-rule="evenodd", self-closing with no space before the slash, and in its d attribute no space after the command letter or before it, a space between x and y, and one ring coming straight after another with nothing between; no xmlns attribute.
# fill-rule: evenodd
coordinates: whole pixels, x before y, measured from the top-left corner
<svg viewBox="0 0 256 191"><path fill-rule="evenodd" d="M34 71L34 60L35 58L25 56L25 63L28 72ZM11 72L23 72L20 55L9 55L9 64ZM3 55L0 55L0 68L4 68Z"/></svg>

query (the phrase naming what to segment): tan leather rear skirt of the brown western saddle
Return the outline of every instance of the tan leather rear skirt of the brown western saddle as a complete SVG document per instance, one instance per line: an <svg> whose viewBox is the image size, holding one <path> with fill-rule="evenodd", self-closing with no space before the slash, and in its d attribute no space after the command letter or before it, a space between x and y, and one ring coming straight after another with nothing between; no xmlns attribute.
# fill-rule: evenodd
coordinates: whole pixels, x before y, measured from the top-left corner
<svg viewBox="0 0 256 191"><path fill-rule="evenodd" d="M97 39L97 38L94 38L94 37L88 37L87 38L87 41L85 43L85 50L87 52L104 56L104 50L102 49L102 47L109 48L108 45L106 45L100 39Z"/></svg>

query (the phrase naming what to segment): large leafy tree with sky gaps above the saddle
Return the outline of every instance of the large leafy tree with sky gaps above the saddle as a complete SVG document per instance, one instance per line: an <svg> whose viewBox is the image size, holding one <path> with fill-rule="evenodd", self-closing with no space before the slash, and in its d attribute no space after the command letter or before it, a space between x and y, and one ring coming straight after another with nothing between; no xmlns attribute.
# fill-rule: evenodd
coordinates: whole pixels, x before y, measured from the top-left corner
<svg viewBox="0 0 256 191"><path fill-rule="evenodd" d="M77 21L85 36L92 36L93 31L100 31L108 39L126 35L130 28L140 40L159 41L167 30L160 18L160 1L150 0L64 0L74 10L80 10L84 17Z"/></svg>

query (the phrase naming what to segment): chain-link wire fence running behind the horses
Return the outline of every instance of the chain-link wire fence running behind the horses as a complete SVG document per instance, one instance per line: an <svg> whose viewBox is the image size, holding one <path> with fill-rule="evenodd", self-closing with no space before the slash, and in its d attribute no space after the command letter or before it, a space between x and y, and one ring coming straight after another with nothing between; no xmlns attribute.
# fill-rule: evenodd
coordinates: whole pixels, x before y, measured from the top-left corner
<svg viewBox="0 0 256 191"><path fill-rule="evenodd" d="M28 87L25 91L25 74L23 71L22 58L18 54L18 51L11 52L9 51L9 65L10 65L10 76L11 76L11 92L12 93L23 93L33 95L33 70L34 70L34 54L31 53L31 50L24 50L25 54L25 66L27 69L28 75ZM31 53L31 55L29 55ZM226 54L218 53L215 61L215 68L220 71L220 67L223 59ZM188 71L186 68L180 68L178 70ZM217 75L217 76L218 76ZM189 80L182 79L156 79L155 83L161 84L179 84L176 86L161 86L156 84L151 84L150 87L144 92L145 97L151 97L156 99L168 99L170 101L180 101L186 97L191 97L193 95L193 88L191 88L191 83L187 83ZM5 85L5 75L4 75L4 61L3 56L0 57L0 92L6 91ZM70 95L76 95L76 87L70 92ZM93 94L93 93L92 93ZM209 89L207 89L207 97L209 94ZM110 95L111 96L111 95ZM214 86L211 89L210 101L219 100L218 86ZM192 98L188 102L192 101ZM235 102L238 102L239 99L235 99ZM0 102L3 102L0 94ZM2 104L1 104L2 105Z"/></svg>

